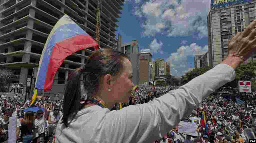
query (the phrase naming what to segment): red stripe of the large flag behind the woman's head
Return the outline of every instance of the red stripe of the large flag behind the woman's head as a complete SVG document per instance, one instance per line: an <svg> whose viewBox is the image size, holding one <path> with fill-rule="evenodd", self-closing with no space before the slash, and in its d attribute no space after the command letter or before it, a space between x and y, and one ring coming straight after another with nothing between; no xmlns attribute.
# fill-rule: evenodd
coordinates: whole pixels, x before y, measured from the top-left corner
<svg viewBox="0 0 256 143"><path fill-rule="evenodd" d="M44 90L51 90L54 76L65 58L76 51L94 46L98 46L98 44L91 36L84 34L56 43L52 48L51 57L46 72Z"/></svg>

